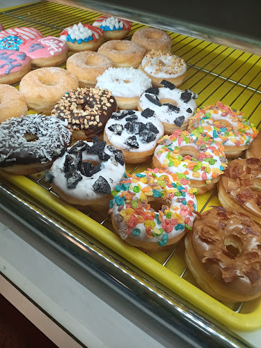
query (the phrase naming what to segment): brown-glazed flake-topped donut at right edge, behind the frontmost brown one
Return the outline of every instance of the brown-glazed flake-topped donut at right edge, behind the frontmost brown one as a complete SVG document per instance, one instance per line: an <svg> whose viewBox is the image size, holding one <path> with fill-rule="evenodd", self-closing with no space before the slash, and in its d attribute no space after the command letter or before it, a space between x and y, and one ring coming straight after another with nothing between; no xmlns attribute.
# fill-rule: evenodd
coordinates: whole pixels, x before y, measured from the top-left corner
<svg viewBox="0 0 261 348"><path fill-rule="evenodd" d="M223 207L246 213L261 223L261 159L234 159L226 168L218 185Z"/></svg>

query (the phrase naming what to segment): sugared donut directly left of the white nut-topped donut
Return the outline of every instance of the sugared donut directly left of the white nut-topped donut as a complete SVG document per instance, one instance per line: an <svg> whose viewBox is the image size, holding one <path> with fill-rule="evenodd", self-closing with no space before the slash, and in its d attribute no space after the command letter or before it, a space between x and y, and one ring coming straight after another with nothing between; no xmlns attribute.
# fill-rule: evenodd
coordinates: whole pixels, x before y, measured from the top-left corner
<svg viewBox="0 0 261 348"><path fill-rule="evenodd" d="M127 40L105 42L98 52L110 58L116 68L138 68L146 53L141 45Z"/></svg>

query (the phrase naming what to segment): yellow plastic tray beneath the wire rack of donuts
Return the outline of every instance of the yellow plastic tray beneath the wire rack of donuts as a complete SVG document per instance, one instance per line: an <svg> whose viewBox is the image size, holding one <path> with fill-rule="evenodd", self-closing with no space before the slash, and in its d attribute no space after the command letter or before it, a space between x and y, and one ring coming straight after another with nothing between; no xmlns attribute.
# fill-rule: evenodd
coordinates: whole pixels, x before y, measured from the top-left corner
<svg viewBox="0 0 261 348"><path fill-rule="evenodd" d="M0 23L6 29L15 26L33 26L45 36L56 35L66 26L83 22L92 24L100 14L40 1L19 8L3 10ZM142 24L134 23L132 33ZM216 45L203 40L168 32L173 39L172 52L182 56L188 64L187 77L181 88L198 93L198 106L221 100L245 113L258 127L261 122L261 59L250 53ZM139 167L127 166L127 171L142 171L150 163ZM211 315L219 322L235 330L253 330L261 327L261 301L246 303L221 303L200 290L184 262L184 243L174 251L159 251L146 255L129 246L111 232L111 220L104 214L89 212L89 216L64 203L49 191L42 174L23 177L1 171L1 176L23 189L42 204L70 219L72 223L88 232L111 250L132 262L159 283L182 296L194 306ZM219 205L215 191L200 195L198 210L209 205Z"/></svg>

